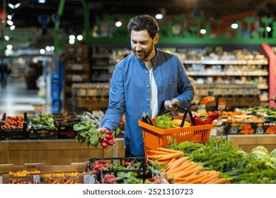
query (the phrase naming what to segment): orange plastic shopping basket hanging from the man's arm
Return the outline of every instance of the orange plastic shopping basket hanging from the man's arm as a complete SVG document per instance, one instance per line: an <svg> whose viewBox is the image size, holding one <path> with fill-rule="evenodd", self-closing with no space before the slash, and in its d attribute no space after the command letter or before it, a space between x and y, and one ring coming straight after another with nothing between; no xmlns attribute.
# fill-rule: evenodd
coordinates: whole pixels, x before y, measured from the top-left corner
<svg viewBox="0 0 276 198"><path fill-rule="evenodd" d="M174 118L181 119L179 116ZM156 118L151 119L151 122L155 124ZM159 147L166 147L173 144L175 140L177 143L182 141L206 143L209 140L211 129L214 129L214 124L179 127L175 129L159 129L142 122L142 120L139 120L138 124L142 127L145 152L149 149L157 150Z"/></svg>

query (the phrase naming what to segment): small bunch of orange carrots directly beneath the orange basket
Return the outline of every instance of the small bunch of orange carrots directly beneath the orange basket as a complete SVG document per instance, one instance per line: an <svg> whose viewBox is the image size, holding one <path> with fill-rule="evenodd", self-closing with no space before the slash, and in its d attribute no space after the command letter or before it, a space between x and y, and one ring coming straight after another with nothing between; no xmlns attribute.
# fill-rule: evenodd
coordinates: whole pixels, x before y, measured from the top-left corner
<svg viewBox="0 0 276 198"><path fill-rule="evenodd" d="M173 163L177 158L180 158L183 151L176 151L170 148L157 148L158 150L147 151L146 158L149 164L156 163L156 165L168 165Z"/></svg>

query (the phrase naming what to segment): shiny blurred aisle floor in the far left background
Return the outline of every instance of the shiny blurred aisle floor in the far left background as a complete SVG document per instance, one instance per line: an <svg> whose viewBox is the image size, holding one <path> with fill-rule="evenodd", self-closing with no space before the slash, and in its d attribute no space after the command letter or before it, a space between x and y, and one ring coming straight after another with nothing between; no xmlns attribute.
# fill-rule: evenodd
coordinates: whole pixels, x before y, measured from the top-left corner
<svg viewBox="0 0 276 198"><path fill-rule="evenodd" d="M8 82L6 88L0 88L0 119L4 113L8 116L28 115L34 112L50 111L45 99L40 98L38 89L28 89L23 79Z"/></svg>

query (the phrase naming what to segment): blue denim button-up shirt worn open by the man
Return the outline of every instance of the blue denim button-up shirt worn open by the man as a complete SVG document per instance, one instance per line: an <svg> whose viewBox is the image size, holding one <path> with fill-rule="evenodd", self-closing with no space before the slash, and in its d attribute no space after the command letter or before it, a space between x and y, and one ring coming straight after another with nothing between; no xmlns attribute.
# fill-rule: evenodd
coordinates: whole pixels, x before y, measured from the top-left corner
<svg viewBox="0 0 276 198"><path fill-rule="evenodd" d="M163 103L177 98L180 105L189 107L194 97L194 89L185 73L183 63L174 54L156 49L151 59L154 80L158 91L159 115L168 112ZM110 81L110 98L102 127L115 130L125 113L124 145L130 153L144 157L144 140L138 120L143 112L150 114L149 70L144 63L130 54L115 66Z"/></svg>

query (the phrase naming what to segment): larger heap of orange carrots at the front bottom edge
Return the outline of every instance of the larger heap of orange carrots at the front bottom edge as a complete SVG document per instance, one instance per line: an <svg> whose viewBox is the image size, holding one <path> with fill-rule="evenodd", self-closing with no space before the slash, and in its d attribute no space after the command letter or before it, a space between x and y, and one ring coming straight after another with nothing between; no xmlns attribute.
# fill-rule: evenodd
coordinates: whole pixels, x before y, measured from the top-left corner
<svg viewBox="0 0 276 198"><path fill-rule="evenodd" d="M164 177L172 184L224 184L225 178L219 177L217 170L204 170L202 165L189 161L187 157L176 159L161 169Z"/></svg>

